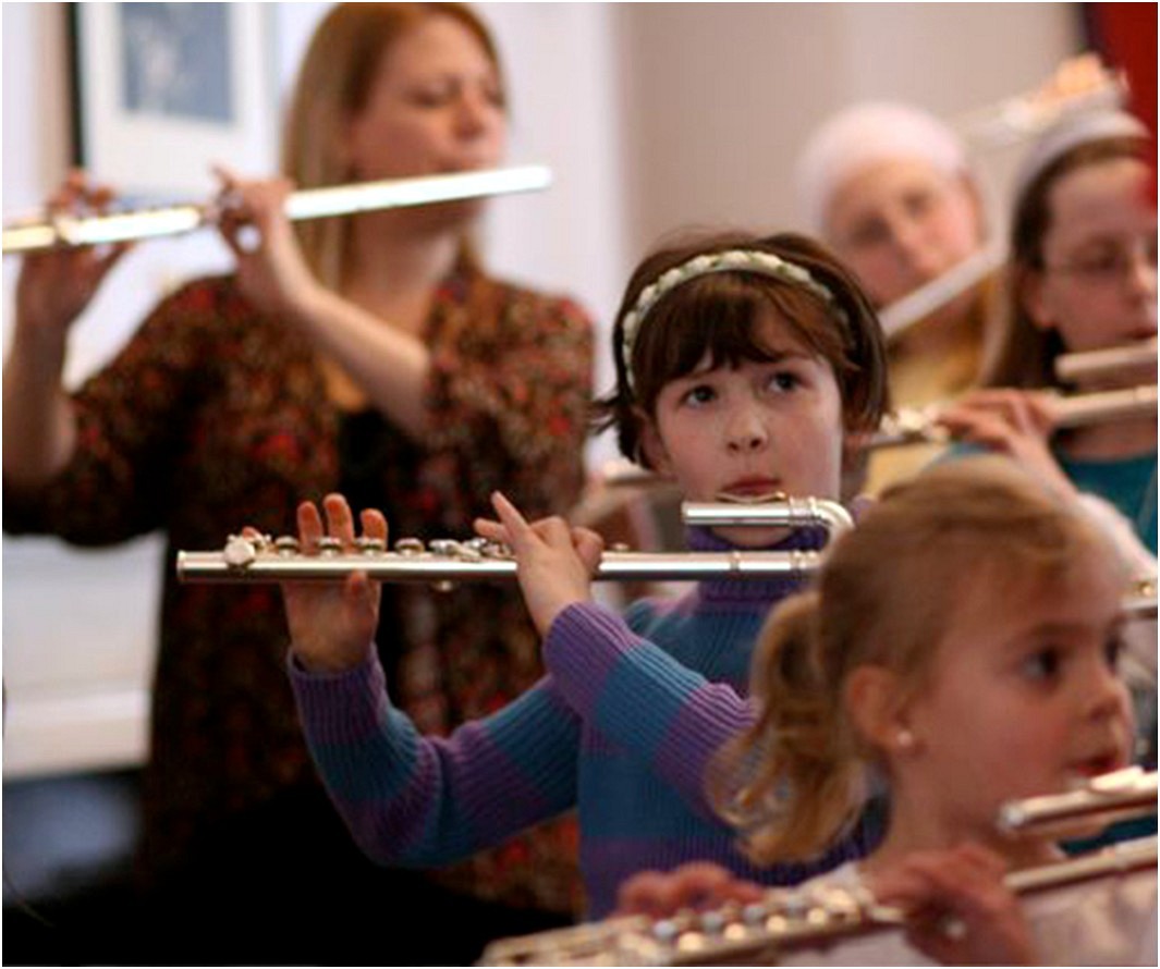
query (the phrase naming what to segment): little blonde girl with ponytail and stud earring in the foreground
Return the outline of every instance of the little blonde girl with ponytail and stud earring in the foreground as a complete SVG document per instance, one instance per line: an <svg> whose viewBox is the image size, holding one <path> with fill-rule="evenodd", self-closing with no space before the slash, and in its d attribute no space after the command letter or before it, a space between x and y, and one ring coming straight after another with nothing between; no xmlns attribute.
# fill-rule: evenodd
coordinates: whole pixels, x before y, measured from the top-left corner
<svg viewBox="0 0 1160 969"><path fill-rule="evenodd" d="M1073 502L977 457L884 493L815 588L771 615L753 670L760 719L719 762L718 803L755 861L783 865L841 838L884 777L882 843L817 883L864 883L911 915L905 938L877 933L811 961L1154 964L1154 872L1025 899L1002 882L1059 858L1044 836L1000 833L1005 801L1128 763L1126 574L1108 568L1110 553ZM697 865L638 876L621 904L657 915L754 897Z"/></svg>

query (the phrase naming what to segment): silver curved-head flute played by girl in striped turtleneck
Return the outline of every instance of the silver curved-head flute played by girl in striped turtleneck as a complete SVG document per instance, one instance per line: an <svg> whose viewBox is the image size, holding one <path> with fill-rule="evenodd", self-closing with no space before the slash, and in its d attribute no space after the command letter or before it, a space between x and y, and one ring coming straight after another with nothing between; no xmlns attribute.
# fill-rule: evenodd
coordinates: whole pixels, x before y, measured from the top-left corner
<svg viewBox="0 0 1160 969"><path fill-rule="evenodd" d="M819 529L832 541L853 525L849 512L824 498L780 498L761 504L686 503L690 525L748 525ZM594 578L600 581L693 581L701 578L770 578L806 575L821 564L822 551L784 552L606 552ZM334 581L363 571L377 582L425 582L448 588L456 582L515 580L516 561L501 544L481 538L422 542L405 538L387 551L385 542L358 539L353 548L324 538L304 553L297 539L231 536L220 552L179 552L182 582Z"/></svg>

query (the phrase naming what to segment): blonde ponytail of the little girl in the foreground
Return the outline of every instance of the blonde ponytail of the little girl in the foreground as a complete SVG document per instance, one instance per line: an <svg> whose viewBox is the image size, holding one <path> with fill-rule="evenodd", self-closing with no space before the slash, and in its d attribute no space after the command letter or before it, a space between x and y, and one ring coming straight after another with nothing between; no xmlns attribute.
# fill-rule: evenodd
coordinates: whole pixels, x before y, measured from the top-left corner
<svg viewBox="0 0 1160 969"><path fill-rule="evenodd" d="M863 768L825 669L821 595L784 600L754 653L753 727L710 770L713 806L759 864L825 851L857 817Z"/></svg>

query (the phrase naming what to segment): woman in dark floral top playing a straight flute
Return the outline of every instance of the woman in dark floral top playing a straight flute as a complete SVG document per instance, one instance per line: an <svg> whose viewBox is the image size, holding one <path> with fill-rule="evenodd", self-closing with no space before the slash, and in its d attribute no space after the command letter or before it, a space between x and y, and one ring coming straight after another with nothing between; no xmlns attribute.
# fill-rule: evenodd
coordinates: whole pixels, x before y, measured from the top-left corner
<svg viewBox="0 0 1160 969"><path fill-rule="evenodd" d="M5 526L84 545L166 533L140 853L159 937L176 930L196 962L216 961L197 947L217 944L193 925L232 938L232 961L333 961L340 926L385 911L385 896L401 921L415 919L408 901L458 919L415 954L400 937L401 962L466 961L492 933L570 920L579 904L570 824L437 879L386 882L314 777L282 672L277 591L180 586L172 569L174 549L216 545L239 520L288 532L304 496L340 488L360 508L389 508L411 534L470 531L496 488L536 515L571 507L589 320L567 299L487 275L469 240L479 203L292 227L282 213L291 183L494 167L506 134L499 58L470 9L340 5L298 76L285 180L223 173L231 275L166 298L70 395L68 327L119 250L23 267L3 374ZM53 206L102 201L78 176ZM425 730L483 715L541 675L514 589L438 602L392 589L382 621L394 699ZM311 917L288 937L287 912L304 904Z"/></svg>

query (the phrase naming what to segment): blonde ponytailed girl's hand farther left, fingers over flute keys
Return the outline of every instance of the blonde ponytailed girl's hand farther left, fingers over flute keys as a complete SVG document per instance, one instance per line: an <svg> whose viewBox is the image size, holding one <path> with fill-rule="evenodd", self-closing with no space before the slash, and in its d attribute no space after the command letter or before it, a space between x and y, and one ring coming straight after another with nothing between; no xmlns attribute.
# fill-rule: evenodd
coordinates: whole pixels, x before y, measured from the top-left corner
<svg viewBox="0 0 1160 969"><path fill-rule="evenodd" d="M682 909L698 912L727 902L760 902L764 889L710 861L690 861L672 872L638 872L616 894L614 916L667 918Z"/></svg>

